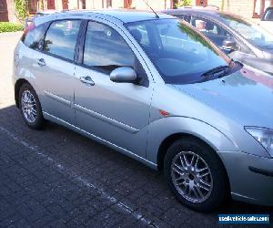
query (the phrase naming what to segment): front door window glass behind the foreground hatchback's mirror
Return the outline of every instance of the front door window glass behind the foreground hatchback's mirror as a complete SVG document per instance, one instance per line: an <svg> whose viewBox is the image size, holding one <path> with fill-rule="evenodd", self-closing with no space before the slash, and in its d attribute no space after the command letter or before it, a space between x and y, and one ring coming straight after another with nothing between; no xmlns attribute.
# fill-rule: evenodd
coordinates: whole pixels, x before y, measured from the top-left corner
<svg viewBox="0 0 273 228"><path fill-rule="evenodd" d="M136 57L113 28L89 22L86 31L84 65L110 73L117 67L135 68Z"/></svg>

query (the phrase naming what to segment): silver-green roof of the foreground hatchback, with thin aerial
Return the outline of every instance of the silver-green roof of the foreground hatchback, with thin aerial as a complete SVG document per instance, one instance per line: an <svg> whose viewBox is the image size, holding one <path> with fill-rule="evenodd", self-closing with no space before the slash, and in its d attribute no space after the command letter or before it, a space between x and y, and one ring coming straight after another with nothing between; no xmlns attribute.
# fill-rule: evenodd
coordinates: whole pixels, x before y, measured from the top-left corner
<svg viewBox="0 0 273 228"><path fill-rule="evenodd" d="M163 13L157 13L159 18L175 18ZM56 17L69 17L69 16L99 16L110 21L116 21L117 23L129 23L136 21L144 21L150 19L156 19L157 16L152 11L145 10L130 10L130 9L102 9L102 10L67 10L64 12L56 13L53 15L43 16L38 18L38 22L54 20ZM46 18L46 19L45 19Z"/></svg>

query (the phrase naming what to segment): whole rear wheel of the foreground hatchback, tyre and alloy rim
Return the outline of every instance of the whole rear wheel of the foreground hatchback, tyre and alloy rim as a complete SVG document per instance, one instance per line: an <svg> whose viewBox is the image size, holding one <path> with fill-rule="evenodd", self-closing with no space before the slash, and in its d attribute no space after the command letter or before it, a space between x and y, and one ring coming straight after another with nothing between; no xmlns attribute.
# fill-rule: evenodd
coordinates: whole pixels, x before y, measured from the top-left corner
<svg viewBox="0 0 273 228"><path fill-rule="evenodd" d="M39 98L34 88L27 83L23 84L19 91L19 109L29 128L40 130L44 127L45 119Z"/></svg>

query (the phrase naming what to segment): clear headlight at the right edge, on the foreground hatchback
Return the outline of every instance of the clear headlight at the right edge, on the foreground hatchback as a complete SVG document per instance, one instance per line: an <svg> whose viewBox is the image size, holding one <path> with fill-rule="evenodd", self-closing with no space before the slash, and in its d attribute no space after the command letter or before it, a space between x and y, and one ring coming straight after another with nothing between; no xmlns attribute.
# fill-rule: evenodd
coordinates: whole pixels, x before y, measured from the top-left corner
<svg viewBox="0 0 273 228"><path fill-rule="evenodd" d="M266 149L273 158L273 130L245 127L245 130Z"/></svg>

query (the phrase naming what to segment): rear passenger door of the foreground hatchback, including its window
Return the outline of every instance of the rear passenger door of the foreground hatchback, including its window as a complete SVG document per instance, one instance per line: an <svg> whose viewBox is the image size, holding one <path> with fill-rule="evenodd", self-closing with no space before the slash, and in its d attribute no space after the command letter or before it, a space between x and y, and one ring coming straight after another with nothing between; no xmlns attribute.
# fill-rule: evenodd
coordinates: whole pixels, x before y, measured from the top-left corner
<svg viewBox="0 0 273 228"><path fill-rule="evenodd" d="M43 53L37 59L36 80L44 92L43 110L71 124L75 124L74 54L80 23L80 20L53 22L45 34Z"/></svg>

